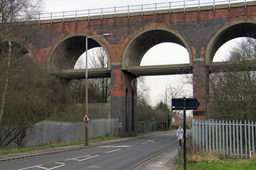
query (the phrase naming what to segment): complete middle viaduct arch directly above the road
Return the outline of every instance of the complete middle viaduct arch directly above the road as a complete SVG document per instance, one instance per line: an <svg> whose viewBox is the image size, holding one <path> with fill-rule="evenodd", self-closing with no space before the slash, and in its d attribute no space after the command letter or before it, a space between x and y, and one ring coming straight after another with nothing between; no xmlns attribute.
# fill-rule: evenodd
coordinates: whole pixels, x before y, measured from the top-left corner
<svg viewBox="0 0 256 170"><path fill-rule="evenodd" d="M189 43L174 30L165 27L150 27L139 32L126 45L122 57L123 69L127 66L139 66L140 62L151 47L164 42L177 43L188 50L189 62L192 65L192 52Z"/></svg>

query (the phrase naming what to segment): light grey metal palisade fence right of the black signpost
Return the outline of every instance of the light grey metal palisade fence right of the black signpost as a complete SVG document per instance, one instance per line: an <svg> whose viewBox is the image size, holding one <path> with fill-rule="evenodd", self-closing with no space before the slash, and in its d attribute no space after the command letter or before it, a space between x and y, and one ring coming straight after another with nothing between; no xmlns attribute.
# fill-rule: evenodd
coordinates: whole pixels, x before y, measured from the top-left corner
<svg viewBox="0 0 256 170"><path fill-rule="evenodd" d="M255 152L256 125L253 121L192 120L194 146L204 151L249 158Z"/></svg>

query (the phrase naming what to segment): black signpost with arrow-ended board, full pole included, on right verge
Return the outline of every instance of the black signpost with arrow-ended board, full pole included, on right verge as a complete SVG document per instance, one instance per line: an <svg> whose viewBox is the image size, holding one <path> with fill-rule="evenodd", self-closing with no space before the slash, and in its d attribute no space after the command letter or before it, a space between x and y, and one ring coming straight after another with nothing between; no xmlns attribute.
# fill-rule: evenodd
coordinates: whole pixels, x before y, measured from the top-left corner
<svg viewBox="0 0 256 170"><path fill-rule="evenodd" d="M199 107L200 103L197 98L172 98L172 109L183 110L183 169L186 170L186 110L195 110Z"/></svg>

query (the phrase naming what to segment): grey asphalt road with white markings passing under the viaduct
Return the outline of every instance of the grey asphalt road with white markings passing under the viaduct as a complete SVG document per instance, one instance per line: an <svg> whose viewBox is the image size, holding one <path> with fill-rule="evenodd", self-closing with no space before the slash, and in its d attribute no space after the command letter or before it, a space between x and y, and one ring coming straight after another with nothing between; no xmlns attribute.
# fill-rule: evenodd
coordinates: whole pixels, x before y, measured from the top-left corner
<svg viewBox="0 0 256 170"><path fill-rule="evenodd" d="M0 163L1 170L123 170L178 144L176 132Z"/></svg>

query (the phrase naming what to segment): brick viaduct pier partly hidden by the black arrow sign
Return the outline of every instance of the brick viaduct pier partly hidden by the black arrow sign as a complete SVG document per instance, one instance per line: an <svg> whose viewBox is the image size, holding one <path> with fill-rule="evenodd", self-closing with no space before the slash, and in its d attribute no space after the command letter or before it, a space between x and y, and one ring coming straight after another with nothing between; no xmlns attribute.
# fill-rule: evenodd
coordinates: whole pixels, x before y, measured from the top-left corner
<svg viewBox="0 0 256 170"><path fill-rule="evenodd" d="M193 97L200 106L193 111L193 119L206 120L207 99L209 94L209 73L204 61L193 61Z"/></svg>

